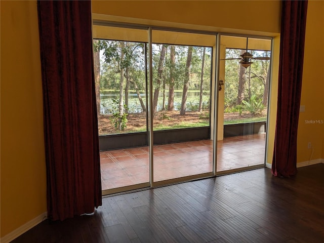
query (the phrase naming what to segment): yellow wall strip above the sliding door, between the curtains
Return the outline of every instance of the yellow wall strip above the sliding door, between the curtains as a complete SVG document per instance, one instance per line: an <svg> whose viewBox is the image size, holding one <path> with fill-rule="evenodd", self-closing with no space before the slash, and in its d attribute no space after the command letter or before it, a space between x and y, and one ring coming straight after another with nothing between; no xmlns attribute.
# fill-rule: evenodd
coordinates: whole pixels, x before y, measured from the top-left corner
<svg viewBox="0 0 324 243"><path fill-rule="evenodd" d="M280 6L280 1L92 1L92 12L232 31L278 33Z"/></svg>

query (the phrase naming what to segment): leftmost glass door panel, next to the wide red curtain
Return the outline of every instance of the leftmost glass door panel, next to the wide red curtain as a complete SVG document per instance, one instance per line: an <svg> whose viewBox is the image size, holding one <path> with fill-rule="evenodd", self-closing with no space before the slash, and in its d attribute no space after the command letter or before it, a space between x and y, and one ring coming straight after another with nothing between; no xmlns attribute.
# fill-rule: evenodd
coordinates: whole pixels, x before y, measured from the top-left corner
<svg viewBox="0 0 324 243"><path fill-rule="evenodd" d="M149 186L148 31L93 29L103 194Z"/></svg>

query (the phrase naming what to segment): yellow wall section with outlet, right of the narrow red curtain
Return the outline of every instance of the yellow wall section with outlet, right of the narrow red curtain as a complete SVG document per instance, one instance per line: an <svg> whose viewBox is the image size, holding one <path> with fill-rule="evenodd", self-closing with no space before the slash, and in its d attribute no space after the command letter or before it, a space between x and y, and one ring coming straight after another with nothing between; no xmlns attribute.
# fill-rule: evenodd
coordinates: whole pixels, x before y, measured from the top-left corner
<svg viewBox="0 0 324 243"><path fill-rule="evenodd" d="M324 2L309 1L306 20L305 53L301 105L297 140L297 162L324 158ZM306 121L305 121L306 120ZM308 123L313 120L315 124ZM316 120L323 123L316 124Z"/></svg>

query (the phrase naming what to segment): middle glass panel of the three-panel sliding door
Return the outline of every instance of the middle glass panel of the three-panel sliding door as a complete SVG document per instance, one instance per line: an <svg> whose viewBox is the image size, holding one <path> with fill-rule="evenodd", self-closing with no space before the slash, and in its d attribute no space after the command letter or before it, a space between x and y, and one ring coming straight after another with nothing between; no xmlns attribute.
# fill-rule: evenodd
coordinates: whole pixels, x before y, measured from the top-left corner
<svg viewBox="0 0 324 243"><path fill-rule="evenodd" d="M152 31L154 182L213 172L215 42L215 35Z"/></svg>

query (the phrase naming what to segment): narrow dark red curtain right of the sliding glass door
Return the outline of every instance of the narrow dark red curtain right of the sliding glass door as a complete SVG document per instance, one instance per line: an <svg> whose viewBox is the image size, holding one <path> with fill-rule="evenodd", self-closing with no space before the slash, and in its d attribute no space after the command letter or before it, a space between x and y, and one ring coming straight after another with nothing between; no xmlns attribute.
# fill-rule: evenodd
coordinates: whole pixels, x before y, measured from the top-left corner
<svg viewBox="0 0 324 243"><path fill-rule="evenodd" d="M277 121L272 174L297 173L297 130L302 87L307 1L282 1Z"/></svg>

